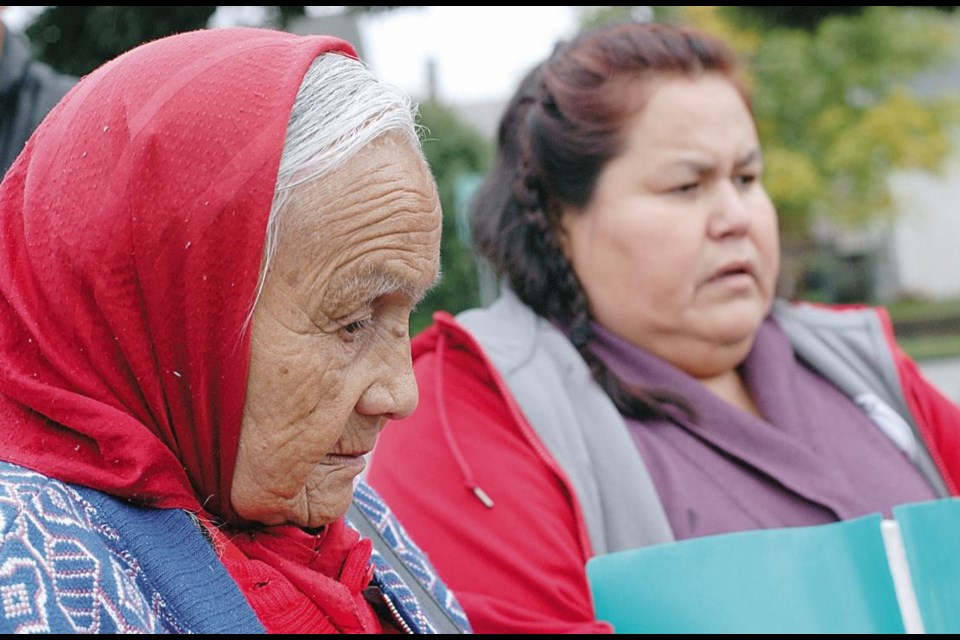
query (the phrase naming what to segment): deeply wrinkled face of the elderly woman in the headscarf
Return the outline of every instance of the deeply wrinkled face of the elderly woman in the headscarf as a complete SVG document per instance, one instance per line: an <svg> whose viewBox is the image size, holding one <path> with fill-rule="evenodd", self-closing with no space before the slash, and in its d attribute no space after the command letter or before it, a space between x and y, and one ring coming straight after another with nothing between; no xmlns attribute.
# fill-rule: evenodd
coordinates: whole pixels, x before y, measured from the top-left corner
<svg viewBox="0 0 960 640"><path fill-rule="evenodd" d="M253 315L231 500L248 520L317 527L417 404L409 317L438 277L441 217L426 165L389 135L295 198Z"/></svg>

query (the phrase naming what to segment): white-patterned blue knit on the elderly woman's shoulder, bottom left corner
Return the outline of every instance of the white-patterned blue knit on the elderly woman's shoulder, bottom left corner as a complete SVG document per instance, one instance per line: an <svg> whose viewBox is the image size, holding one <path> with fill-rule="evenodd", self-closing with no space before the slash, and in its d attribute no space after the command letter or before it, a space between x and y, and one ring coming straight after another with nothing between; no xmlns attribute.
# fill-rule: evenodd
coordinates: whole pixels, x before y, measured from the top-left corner
<svg viewBox="0 0 960 640"><path fill-rule="evenodd" d="M143 591L135 558L64 484L0 470L0 631L183 632L160 594Z"/></svg>

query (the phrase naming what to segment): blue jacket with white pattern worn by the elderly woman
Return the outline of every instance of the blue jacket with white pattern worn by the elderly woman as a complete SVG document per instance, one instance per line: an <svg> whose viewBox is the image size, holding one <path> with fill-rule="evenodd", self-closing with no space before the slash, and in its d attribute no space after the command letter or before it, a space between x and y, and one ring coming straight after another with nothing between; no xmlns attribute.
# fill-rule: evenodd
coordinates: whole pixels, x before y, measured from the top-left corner
<svg viewBox="0 0 960 640"><path fill-rule="evenodd" d="M378 496L357 504L467 630L463 611ZM414 633L434 625L376 551L374 586ZM401 626L403 626L401 625ZM0 462L0 632L263 633L193 519Z"/></svg>

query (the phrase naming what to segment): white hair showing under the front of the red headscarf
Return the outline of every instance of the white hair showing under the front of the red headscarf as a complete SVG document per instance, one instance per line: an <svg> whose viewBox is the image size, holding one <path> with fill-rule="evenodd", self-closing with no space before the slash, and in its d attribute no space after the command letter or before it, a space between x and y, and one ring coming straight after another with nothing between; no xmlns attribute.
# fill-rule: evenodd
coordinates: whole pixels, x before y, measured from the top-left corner
<svg viewBox="0 0 960 640"><path fill-rule="evenodd" d="M336 171L360 149L388 132L399 134L423 157L416 114L417 107L407 94L379 82L359 60L329 53L313 61L290 113L267 219L254 307L276 255L284 213L293 191ZM251 309L248 321L252 316Z"/></svg>

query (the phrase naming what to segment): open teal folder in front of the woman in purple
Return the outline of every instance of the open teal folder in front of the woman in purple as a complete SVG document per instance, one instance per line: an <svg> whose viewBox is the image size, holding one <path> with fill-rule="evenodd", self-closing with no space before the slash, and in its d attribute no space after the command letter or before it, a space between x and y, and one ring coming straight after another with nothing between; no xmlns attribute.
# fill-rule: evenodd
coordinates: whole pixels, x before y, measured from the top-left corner
<svg viewBox="0 0 960 640"><path fill-rule="evenodd" d="M592 558L618 633L960 632L960 500Z"/></svg>

